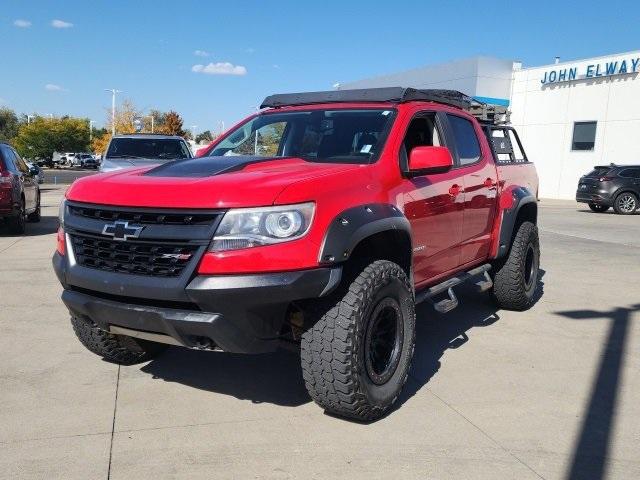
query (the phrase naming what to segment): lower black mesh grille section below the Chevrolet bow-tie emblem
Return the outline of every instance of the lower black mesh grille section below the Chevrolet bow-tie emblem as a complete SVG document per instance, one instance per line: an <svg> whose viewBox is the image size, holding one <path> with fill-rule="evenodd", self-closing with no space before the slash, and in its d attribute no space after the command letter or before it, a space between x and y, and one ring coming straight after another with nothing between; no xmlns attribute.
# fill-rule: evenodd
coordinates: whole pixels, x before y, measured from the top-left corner
<svg viewBox="0 0 640 480"><path fill-rule="evenodd" d="M198 251L198 245L159 241L110 240L71 234L76 262L108 272L177 277Z"/></svg>

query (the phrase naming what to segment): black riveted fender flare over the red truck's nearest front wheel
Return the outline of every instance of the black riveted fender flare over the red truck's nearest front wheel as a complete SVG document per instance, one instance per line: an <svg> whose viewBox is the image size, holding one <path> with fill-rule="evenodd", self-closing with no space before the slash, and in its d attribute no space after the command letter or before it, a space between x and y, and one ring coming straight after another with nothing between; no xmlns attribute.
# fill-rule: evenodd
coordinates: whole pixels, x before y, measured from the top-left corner
<svg viewBox="0 0 640 480"><path fill-rule="evenodd" d="M362 240L386 231L405 232L411 240L409 220L391 204L369 203L344 210L331 221L318 261L332 264L348 260Z"/></svg>

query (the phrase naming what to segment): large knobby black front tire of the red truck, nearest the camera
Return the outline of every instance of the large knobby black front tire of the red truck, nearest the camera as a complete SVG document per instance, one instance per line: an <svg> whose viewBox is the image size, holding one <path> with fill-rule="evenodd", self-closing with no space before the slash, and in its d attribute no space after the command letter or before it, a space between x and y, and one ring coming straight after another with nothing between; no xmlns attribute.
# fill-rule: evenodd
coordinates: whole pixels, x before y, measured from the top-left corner
<svg viewBox="0 0 640 480"><path fill-rule="evenodd" d="M371 421L389 411L407 380L415 346L415 300L406 273L393 262L376 260L354 277L331 301L320 299L320 308L310 309L317 317L302 335L302 375L311 398L327 412ZM395 367L376 384L369 373L371 357L365 359L373 347L365 344L375 326L373 313L379 316L380 308L392 304L401 326L394 330L398 343L390 365Z"/></svg>

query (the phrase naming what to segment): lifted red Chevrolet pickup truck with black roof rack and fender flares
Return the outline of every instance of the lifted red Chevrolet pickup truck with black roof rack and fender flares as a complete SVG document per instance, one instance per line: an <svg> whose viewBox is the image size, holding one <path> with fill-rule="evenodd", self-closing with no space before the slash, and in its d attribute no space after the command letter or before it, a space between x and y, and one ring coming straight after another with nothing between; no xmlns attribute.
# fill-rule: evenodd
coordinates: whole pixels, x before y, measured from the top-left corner
<svg viewBox="0 0 640 480"><path fill-rule="evenodd" d="M204 157L69 188L53 264L89 350L289 347L320 406L372 420L407 379L416 303L447 312L471 281L532 304L538 181L505 112L404 88L262 108Z"/></svg>

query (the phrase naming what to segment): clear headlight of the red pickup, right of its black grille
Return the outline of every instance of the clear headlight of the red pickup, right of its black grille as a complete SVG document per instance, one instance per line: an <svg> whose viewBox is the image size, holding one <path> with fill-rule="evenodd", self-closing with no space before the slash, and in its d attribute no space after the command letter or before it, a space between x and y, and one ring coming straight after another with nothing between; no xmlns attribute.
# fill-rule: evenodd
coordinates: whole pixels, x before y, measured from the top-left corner
<svg viewBox="0 0 640 480"><path fill-rule="evenodd" d="M221 252L297 240L309 231L314 210L313 203L229 210L209 250Z"/></svg>

